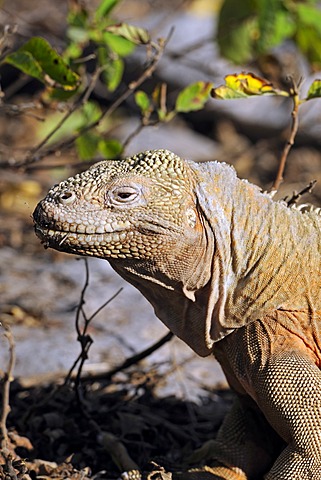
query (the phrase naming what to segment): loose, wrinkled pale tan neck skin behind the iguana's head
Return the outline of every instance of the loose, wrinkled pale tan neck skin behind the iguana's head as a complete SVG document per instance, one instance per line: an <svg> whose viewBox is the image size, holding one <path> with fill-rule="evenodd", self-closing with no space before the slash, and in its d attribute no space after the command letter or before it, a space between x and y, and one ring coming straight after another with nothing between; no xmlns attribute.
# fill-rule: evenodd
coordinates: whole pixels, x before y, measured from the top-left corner
<svg viewBox="0 0 321 480"><path fill-rule="evenodd" d="M275 309L319 310L320 217L272 201L222 164L196 168L215 238L207 345Z"/></svg>

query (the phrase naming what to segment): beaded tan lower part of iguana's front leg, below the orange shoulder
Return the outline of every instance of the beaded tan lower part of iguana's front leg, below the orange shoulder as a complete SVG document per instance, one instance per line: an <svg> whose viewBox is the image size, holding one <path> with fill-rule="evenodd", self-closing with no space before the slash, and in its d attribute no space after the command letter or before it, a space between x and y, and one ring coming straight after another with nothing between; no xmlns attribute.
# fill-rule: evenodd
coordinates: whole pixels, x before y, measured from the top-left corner
<svg viewBox="0 0 321 480"><path fill-rule="evenodd" d="M272 356L258 376L258 404L288 442L266 480L320 480L321 372L308 355Z"/></svg>

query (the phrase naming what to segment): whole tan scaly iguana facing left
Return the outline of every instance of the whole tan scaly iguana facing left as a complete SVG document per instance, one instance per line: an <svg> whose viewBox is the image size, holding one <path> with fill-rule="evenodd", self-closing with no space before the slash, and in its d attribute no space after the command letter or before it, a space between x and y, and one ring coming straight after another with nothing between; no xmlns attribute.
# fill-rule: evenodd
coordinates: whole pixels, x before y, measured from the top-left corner
<svg viewBox="0 0 321 480"><path fill-rule="evenodd" d="M104 258L237 393L183 478L321 479L321 217L219 162L102 161L34 212L46 246Z"/></svg>

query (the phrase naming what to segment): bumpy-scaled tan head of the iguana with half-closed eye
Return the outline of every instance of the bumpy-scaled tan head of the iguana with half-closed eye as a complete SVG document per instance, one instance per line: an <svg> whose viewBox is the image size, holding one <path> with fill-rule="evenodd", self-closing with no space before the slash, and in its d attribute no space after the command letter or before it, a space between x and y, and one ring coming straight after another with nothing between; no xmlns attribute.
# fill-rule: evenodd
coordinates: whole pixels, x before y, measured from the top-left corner
<svg viewBox="0 0 321 480"><path fill-rule="evenodd" d="M202 233L194 177L166 150L97 163L48 192L34 212L36 234L67 253L187 269Z"/></svg>

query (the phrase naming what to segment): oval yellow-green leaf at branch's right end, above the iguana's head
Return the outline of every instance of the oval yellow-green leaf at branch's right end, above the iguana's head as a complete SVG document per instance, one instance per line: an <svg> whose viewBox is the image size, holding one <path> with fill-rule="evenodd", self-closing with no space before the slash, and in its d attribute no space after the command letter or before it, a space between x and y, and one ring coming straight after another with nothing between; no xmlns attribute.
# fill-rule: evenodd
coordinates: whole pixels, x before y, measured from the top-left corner
<svg viewBox="0 0 321 480"><path fill-rule="evenodd" d="M207 102L213 84L210 82L196 82L182 90L176 100L176 112L191 112L200 110Z"/></svg>

